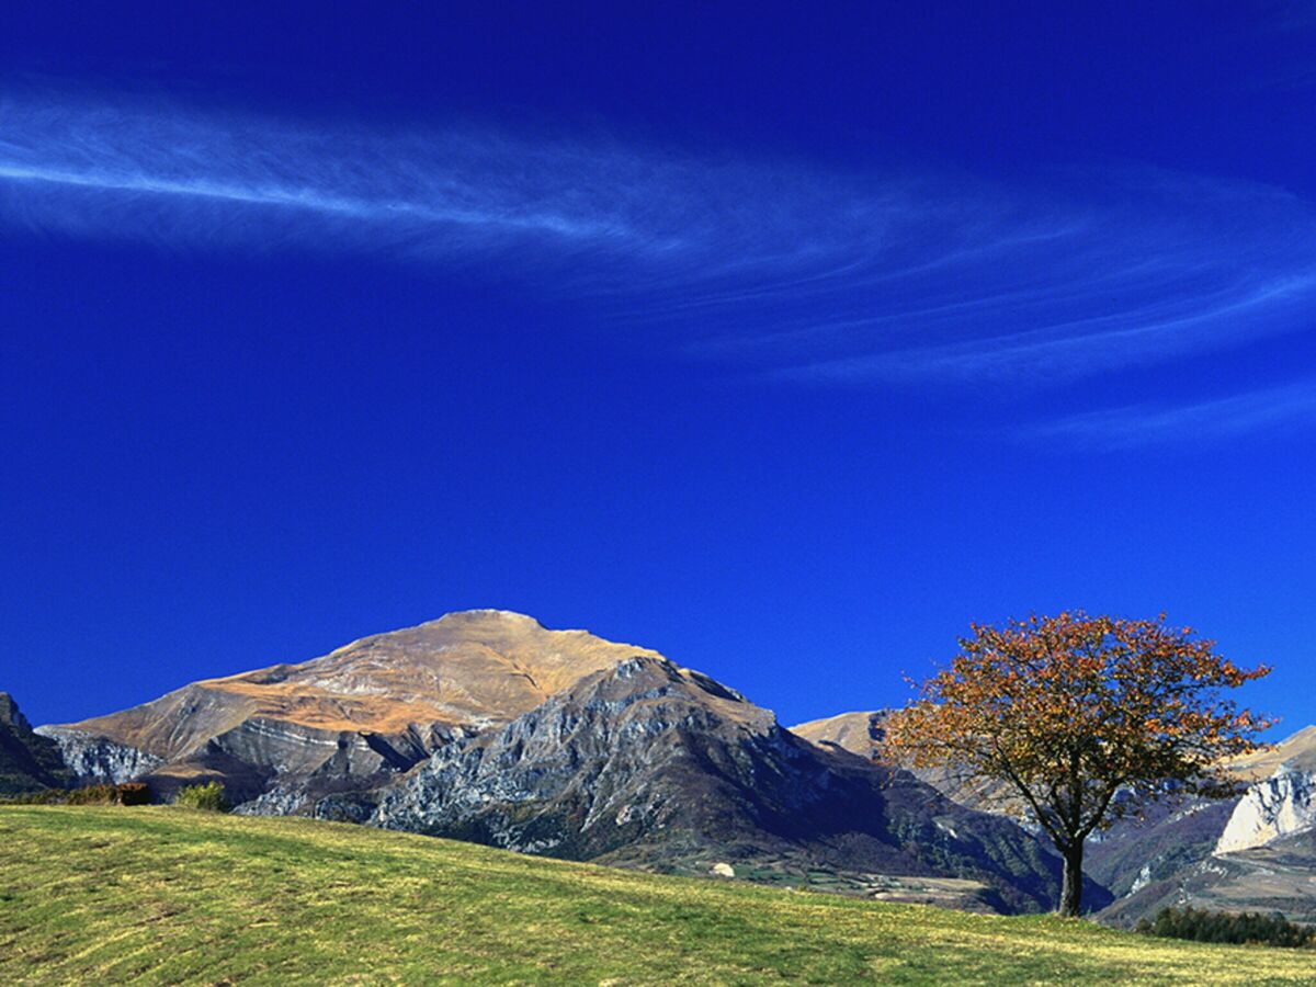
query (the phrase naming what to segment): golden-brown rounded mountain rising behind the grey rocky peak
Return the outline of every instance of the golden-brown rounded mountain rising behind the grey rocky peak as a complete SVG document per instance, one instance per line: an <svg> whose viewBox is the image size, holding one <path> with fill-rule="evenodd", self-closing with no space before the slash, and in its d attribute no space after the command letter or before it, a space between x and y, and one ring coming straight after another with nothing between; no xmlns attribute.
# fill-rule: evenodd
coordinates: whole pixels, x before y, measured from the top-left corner
<svg viewBox="0 0 1316 987"><path fill-rule="evenodd" d="M508 722L636 654L657 657L516 613L468 611L41 732L83 778L145 778L164 795L213 779L238 801L275 787L313 796L380 784L454 737Z"/></svg>

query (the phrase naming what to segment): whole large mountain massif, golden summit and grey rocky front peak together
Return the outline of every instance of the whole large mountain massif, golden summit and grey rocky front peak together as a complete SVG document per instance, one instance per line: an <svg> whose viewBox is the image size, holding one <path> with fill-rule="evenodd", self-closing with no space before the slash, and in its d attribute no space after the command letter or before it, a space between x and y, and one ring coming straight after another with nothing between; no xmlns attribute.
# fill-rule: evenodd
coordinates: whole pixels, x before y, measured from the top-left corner
<svg viewBox="0 0 1316 987"><path fill-rule="evenodd" d="M501 611L42 730L84 776L216 778L251 815L980 911L1045 909L1059 883L1009 820L820 750L657 651Z"/></svg>

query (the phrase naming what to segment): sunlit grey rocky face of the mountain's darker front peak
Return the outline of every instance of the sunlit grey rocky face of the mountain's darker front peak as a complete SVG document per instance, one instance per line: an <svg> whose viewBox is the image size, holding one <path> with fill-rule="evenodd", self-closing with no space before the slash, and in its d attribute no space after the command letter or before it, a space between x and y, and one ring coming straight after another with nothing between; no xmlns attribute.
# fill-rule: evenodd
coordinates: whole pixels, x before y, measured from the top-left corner
<svg viewBox="0 0 1316 987"><path fill-rule="evenodd" d="M692 701L696 694L709 701ZM709 742L728 732L736 746ZM636 658L438 750L384 795L371 822L592 857L672 821L680 800L666 791L666 771L703 757L722 770L736 766L719 762L741 759L753 774L755 749L779 742L766 711L671 662Z"/></svg>

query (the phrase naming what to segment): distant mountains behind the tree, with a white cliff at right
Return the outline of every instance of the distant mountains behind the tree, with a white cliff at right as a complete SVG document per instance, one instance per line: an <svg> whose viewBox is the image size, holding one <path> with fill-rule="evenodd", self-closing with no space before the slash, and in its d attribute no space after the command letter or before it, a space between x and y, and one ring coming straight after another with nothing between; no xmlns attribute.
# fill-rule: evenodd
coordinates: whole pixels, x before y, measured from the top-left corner
<svg viewBox="0 0 1316 987"><path fill-rule="evenodd" d="M882 712L854 712L791 728L829 749L878 757ZM1084 869L1116 900L1100 917L1133 925L1166 905L1280 911L1316 921L1316 726L1230 762L1248 787L1225 800L1166 799L1088 842ZM1026 821L999 787L920 779L979 811Z"/></svg>

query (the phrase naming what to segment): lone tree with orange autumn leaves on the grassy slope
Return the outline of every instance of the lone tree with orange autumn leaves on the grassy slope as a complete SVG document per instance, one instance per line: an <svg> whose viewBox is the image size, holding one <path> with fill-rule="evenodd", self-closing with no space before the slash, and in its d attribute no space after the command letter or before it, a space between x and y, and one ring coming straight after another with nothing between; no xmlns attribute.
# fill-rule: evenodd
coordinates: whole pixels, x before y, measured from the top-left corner
<svg viewBox="0 0 1316 987"><path fill-rule="evenodd" d="M1017 794L1065 862L1059 915L1079 913L1094 830L1170 791L1234 792L1221 759L1257 750L1253 738L1271 725L1223 696L1270 669L1240 669L1191 628L1166 626L1163 613L1079 611L973 632L886 721L886 751Z"/></svg>

